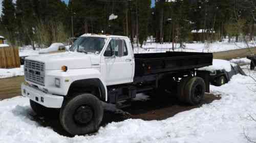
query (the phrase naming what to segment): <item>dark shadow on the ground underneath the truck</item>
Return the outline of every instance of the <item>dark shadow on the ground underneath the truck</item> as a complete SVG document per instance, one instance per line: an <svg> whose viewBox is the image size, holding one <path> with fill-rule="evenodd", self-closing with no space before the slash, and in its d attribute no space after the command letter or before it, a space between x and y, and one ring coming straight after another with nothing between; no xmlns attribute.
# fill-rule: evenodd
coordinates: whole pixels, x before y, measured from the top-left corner
<svg viewBox="0 0 256 143"><path fill-rule="evenodd" d="M208 104L214 100L219 99L221 99L220 96L206 94L205 100L202 104ZM149 98L145 101L136 100L132 101L132 106L122 108L122 110L105 110L101 126L104 127L111 122L121 122L126 119L142 119L145 121L164 120L175 116L179 112L197 108L201 105L189 106L179 102L175 97L170 96L162 96L161 98ZM60 135L72 137L72 135L67 133L61 127L57 113L46 118L35 116L34 119L41 126L51 127Z"/></svg>

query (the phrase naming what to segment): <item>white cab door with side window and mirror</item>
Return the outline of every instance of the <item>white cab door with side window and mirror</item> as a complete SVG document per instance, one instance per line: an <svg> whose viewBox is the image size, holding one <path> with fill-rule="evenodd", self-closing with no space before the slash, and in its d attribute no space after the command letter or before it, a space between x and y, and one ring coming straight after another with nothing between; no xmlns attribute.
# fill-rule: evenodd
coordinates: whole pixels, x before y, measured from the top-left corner
<svg viewBox="0 0 256 143"><path fill-rule="evenodd" d="M111 39L104 52L107 85L132 82L133 55L124 39Z"/></svg>

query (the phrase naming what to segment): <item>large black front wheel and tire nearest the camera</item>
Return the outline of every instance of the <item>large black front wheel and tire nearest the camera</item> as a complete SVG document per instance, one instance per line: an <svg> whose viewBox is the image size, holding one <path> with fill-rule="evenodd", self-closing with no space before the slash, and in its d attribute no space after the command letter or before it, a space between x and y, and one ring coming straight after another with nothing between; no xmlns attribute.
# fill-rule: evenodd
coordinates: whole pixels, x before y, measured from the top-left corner
<svg viewBox="0 0 256 143"><path fill-rule="evenodd" d="M96 132L103 118L101 101L92 94L81 94L66 101L60 110L60 123L72 135Z"/></svg>

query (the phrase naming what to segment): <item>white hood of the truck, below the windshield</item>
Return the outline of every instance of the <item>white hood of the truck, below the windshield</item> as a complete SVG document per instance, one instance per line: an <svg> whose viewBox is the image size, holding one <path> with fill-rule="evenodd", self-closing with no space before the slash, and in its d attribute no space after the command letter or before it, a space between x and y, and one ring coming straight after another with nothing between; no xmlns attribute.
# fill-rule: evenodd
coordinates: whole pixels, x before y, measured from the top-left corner
<svg viewBox="0 0 256 143"><path fill-rule="evenodd" d="M60 70L62 66L67 66L68 69L92 68L92 65L99 65L100 57L96 54L69 51L29 56L26 60L45 63L46 70Z"/></svg>

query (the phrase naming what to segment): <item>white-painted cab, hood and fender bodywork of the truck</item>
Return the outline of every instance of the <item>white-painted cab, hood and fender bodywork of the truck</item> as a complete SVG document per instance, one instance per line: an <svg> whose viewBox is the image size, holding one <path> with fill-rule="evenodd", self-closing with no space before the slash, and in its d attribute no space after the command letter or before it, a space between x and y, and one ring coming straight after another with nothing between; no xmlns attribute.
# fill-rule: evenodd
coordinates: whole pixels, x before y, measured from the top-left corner
<svg viewBox="0 0 256 143"><path fill-rule="evenodd" d="M52 105L53 98L54 102L60 102L62 104L63 100L59 98L66 96L68 94L70 85L72 82L82 79L99 79L105 89L105 101L108 99L108 91L106 89L107 85L123 84L133 82L135 61L134 54L130 39L123 36L106 36L106 35L82 35L89 37L101 37L106 38L106 43L99 54L95 53L81 53L81 52L63 52L63 53L53 53L44 54L39 56L29 56L26 60L32 60L37 62L45 63L45 86L38 85L36 83L27 81L29 84L36 85L39 90L28 88L22 85L22 88L30 90L33 95L40 95L47 98L46 102L42 105L46 107L54 107ZM104 57L106 47L108 46L111 39L123 39L126 43L128 55L126 56L114 56L113 58ZM67 66L68 71L61 71L62 66ZM55 78L60 79L60 88L55 87ZM48 93L45 94L44 91L47 89ZM41 91L40 91L41 90ZM61 95L61 96L57 96ZM30 97L29 97L30 98ZM32 97L33 98L33 97ZM31 98L30 98L31 99ZM39 103L41 104L41 103ZM60 103L58 103L59 107Z"/></svg>

